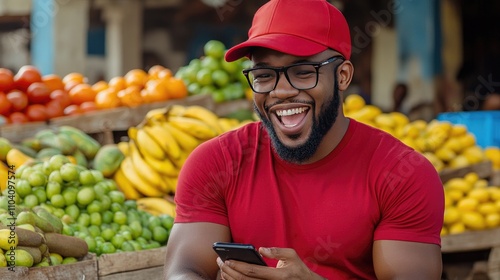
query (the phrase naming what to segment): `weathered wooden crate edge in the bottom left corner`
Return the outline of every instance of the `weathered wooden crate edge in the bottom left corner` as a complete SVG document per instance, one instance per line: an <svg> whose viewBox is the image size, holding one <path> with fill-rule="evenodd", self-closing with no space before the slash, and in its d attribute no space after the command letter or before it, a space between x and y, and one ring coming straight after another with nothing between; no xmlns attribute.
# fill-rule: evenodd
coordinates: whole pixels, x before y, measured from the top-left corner
<svg viewBox="0 0 500 280"><path fill-rule="evenodd" d="M15 267L14 271L0 268L0 279L9 280L97 280L97 258L88 254L83 260L64 265L48 267Z"/></svg>

